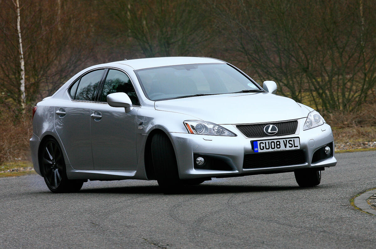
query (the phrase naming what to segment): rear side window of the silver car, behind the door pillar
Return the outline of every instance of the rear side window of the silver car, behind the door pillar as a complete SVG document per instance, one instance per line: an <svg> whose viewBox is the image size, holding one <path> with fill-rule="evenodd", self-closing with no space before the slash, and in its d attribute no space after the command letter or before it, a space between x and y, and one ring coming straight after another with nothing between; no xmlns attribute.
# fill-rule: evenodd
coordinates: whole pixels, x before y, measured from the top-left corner
<svg viewBox="0 0 376 249"><path fill-rule="evenodd" d="M81 77L76 95L74 96L74 99L77 100L89 100L94 101L96 96L96 91L99 85L100 80L102 79L103 72L105 70L97 70L92 71L91 73L88 73ZM71 88L71 96L74 90L76 84L74 84Z"/></svg>

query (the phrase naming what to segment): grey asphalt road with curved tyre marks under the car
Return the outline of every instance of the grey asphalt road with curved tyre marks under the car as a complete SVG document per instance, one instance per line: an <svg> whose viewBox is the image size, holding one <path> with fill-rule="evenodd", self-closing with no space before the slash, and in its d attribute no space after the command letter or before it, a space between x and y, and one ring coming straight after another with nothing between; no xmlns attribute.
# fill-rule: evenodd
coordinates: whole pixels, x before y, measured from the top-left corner
<svg viewBox="0 0 376 249"><path fill-rule="evenodd" d="M0 178L0 247L374 248L376 216L350 198L376 187L376 151L336 157L314 188L282 173L214 179L174 195L135 180L52 194L38 175Z"/></svg>

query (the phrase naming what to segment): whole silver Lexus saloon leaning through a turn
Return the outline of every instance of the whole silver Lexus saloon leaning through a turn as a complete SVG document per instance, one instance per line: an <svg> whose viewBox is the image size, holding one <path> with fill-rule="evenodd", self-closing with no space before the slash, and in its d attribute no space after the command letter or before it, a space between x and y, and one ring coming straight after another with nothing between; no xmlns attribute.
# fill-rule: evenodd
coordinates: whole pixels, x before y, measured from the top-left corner
<svg viewBox="0 0 376 249"><path fill-rule="evenodd" d="M294 172L320 184L335 166L331 127L314 109L213 58L95 65L33 110L35 171L54 193L93 180L157 180L165 193L211 178Z"/></svg>

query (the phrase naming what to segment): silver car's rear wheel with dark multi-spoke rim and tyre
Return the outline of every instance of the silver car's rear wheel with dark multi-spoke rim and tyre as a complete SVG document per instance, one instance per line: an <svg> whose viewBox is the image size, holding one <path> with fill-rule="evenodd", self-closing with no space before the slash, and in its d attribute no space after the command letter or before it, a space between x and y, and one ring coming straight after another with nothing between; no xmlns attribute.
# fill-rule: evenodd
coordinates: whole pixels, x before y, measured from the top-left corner
<svg viewBox="0 0 376 249"><path fill-rule="evenodd" d="M77 192L81 189L82 180L69 180L65 169L62 150L58 142L49 138L44 141L39 153L39 165L47 187L53 193Z"/></svg>

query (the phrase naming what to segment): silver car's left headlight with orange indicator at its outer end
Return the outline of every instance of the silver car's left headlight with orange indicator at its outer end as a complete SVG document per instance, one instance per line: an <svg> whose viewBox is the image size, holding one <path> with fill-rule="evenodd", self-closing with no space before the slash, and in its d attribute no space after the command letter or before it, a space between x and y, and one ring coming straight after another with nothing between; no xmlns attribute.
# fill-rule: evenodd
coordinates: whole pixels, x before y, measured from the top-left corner
<svg viewBox="0 0 376 249"><path fill-rule="evenodd" d="M185 120L183 123L190 134L236 137L226 128L214 123L198 120Z"/></svg>

